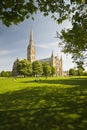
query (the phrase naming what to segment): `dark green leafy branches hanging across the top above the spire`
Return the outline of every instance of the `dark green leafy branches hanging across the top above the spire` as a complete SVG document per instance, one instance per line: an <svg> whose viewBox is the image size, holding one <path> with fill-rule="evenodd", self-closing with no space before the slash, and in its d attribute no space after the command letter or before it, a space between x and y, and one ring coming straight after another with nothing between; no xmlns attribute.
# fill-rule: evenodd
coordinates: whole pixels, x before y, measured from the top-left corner
<svg viewBox="0 0 87 130"><path fill-rule="evenodd" d="M52 18L60 23L69 16L70 5L75 2L78 4L87 2L87 0L70 0L70 2L66 2L66 0L1 0L0 20L6 26L18 24L39 10L43 12L44 16L52 14Z"/></svg>

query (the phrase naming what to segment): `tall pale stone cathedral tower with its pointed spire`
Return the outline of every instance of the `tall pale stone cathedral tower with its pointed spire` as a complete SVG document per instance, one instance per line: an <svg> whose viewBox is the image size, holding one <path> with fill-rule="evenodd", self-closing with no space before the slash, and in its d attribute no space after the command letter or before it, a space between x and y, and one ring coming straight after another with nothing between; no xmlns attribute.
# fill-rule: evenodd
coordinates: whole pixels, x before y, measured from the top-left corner
<svg viewBox="0 0 87 130"><path fill-rule="evenodd" d="M34 46L32 29L30 30L30 40L27 48L27 60L29 60L31 63L36 60L36 50Z"/></svg>

